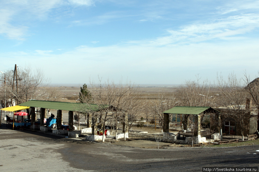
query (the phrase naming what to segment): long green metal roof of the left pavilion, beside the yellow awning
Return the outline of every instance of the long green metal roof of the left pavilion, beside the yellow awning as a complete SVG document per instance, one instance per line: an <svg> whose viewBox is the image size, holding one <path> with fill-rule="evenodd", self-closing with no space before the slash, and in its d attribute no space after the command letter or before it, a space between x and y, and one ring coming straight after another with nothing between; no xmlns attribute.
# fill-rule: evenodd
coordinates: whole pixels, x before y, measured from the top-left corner
<svg viewBox="0 0 259 172"><path fill-rule="evenodd" d="M56 109L64 111L77 111L85 112L89 111L99 111L100 106L96 104L84 104L84 103L70 103L70 102L56 102L56 101L41 101L41 100L30 100L19 104L19 106L29 106L29 107L40 107L45 109ZM106 108L108 106L104 106Z"/></svg>

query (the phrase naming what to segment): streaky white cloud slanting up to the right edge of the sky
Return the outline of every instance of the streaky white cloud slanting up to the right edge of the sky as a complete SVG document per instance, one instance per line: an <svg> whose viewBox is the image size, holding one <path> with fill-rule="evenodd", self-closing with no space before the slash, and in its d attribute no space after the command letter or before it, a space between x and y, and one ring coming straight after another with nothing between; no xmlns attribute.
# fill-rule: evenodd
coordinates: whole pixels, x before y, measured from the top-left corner
<svg viewBox="0 0 259 172"><path fill-rule="evenodd" d="M247 13L219 19L196 21L193 24L180 26L177 30L168 29L167 35L156 39L129 41L133 44L151 46L167 46L175 44L191 44L217 39L244 38L243 34L259 28L259 15Z"/></svg>

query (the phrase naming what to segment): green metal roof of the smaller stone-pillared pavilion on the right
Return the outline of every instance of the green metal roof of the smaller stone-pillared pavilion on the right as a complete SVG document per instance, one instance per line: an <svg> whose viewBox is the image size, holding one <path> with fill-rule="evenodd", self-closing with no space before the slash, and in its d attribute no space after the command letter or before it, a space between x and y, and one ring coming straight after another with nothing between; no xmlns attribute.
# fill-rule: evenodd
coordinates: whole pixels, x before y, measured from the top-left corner
<svg viewBox="0 0 259 172"><path fill-rule="evenodd" d="M189 114L189 115L199 115L202 112L206 113L219 113L211 107L191 107L191 106L176 106L172 109L164 111L163 113L173 113L173 114Z"/></svg>

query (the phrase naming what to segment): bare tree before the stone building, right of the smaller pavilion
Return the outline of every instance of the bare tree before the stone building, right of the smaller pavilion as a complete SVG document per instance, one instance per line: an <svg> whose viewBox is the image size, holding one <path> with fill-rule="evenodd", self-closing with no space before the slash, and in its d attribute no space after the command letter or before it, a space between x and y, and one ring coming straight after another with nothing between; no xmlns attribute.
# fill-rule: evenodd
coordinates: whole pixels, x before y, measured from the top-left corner
<svg viewBox="0 0 259 172"><path fill-rule="evenodd" d="M237 79L236 75L231 73L227 80L220 75L217 77L218 86L220 88L220 105L225 109L225 115L235 119L239 125L242 140L244 140L244 129L247 119L250 117L250 111L245 108L247 101L247 92L241 79Z"/></svg>

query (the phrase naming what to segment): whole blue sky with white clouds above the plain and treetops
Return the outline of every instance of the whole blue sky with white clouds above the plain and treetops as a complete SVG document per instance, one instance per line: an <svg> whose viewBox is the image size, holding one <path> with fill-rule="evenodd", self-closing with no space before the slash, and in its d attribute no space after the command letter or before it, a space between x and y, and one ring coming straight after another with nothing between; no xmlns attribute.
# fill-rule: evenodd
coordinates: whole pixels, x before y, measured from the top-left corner
<svg viewBox="0 0 259 172"><path fill-rule="evenodd" d="M53 84L258 76L255 0L0 0L0 16L0 70Z"/></svg>

